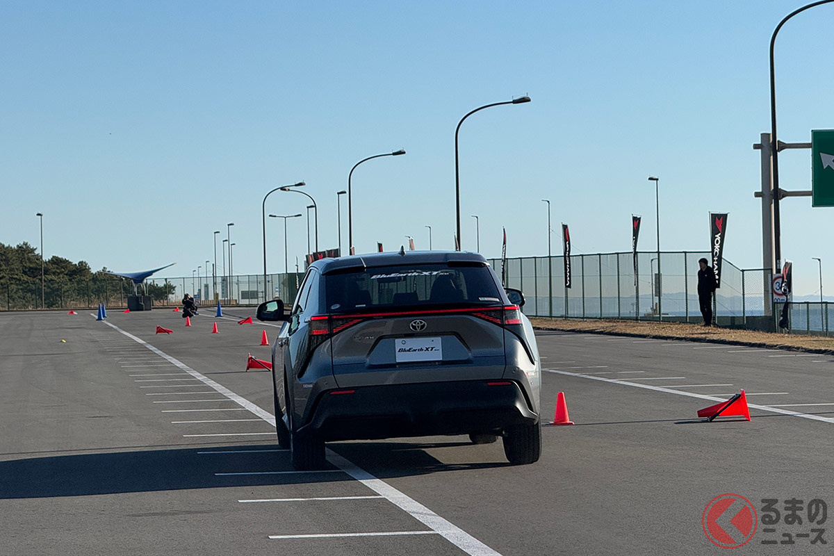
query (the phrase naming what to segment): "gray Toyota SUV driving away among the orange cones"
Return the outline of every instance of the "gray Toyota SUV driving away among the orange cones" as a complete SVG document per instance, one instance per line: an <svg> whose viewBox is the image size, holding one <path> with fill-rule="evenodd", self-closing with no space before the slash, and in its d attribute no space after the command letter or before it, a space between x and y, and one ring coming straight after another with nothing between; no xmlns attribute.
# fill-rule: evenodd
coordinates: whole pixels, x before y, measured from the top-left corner
<svg viewBox="0 0 834 556"><path fill-rule="evenodd" d="M272 349L275 421L299 470L334 440L501 437L510 463L541 453L540 358L524 297L475 253L374 253L316 261Z"/></svg>

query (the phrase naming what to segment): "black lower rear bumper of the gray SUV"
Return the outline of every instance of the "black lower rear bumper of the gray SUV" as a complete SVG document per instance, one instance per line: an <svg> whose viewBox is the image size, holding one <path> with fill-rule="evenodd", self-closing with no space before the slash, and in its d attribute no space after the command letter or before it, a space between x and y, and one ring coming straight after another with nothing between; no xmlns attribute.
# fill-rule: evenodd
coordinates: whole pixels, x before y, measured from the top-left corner
<svg viewBox="0 0 834 556"><path fill-rule="evenodd" d="M364 386L321 393L299 433L325 441L500 433L537 422L531 407L518 383L500 379Z"/></svg>

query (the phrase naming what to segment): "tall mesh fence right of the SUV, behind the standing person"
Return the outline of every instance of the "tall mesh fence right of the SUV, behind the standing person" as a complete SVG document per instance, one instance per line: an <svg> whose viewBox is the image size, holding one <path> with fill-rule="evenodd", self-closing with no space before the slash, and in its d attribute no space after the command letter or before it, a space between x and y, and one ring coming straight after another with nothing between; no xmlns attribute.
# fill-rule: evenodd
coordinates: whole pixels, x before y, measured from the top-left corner
<svg viewBox="0 0 834 556"><path fill-rule="evenodd" d="M710 253L596 253L565 258L529 257L506 261L507 286L525 293L526 314L537 317L636 318L701 322L698 259ZM490 259L500 273L500 259ZM772 329L771 273L742 270L724 261L716 291L716 323Z"/></svg>

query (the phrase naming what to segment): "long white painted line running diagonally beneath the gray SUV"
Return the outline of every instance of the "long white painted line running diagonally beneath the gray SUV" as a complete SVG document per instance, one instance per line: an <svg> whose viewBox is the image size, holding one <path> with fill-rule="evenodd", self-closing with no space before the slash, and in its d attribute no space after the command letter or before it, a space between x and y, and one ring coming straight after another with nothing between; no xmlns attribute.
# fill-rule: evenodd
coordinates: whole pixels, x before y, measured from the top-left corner
<svg viewBox="0 0 834 556"><path fill-rule="evenodd" d="M91 316L94 316L91 313ZM108 327L117 330L119 333L124 334L126 337L133 339L135 342L143 345L143 347L148 348L153 353L156 353L158 356L164 358L169 363L176 365L178 368L182 368L188 374L191 374L194 378L199 378L203 383L211 388L214 388L219 393L224 394L227 398L238 403L241 407L240 408L233 408L233 409L225 409L224 411L243 411L248 410L251 413L254 413L259 418L264 419L267 423L271 424L273 427L275 426L275 417L272 413L269 413L263 408L259 408L254 403L250 402L248 399L239 396L238 394L229 390L220 383L215 382L211 378L207 378L201 373L198 373L193 368L188 367L185 363L178 361L164 353L160 349L154 347L150 343L145 342L142 338L138 338L138 336L134 336L131 333L128 333L118 326L108 323L107 321L103 321ZM555 371L555 372L562 372L562 371ZM569 373L570 374L570 373ZM579 375L581 376L581 375ZM601 377L600 377L601 378ZM163 413L173 413L175 411L221 411L219 409L179 409L179 410L163 410ZM335 453L333 450L329 448L325 448L327 453L327 458L330 463L333 463L338 468L344 470L345 473L348 473L351 477L359 481L359 483L364 484L364 486L370 488L376 493L384 496L384 498L388 499L389 502L394 503L397 507L401 508L405 513L408 513L411 517L417 519L421 523L424 523L426 526L432 529L433 532L440 534L443 538L448 540L450 543L454 544L456 547L463 550L465 553L470 554L470 556L501 556L500 553L496 552L485 543L480 542L477 538L470 535L470 533L466 533L463 529L457 527L454 523L451 523L445 518L441 518L440 515L431 511L429 508L426 508L423 504L414 500L414 498L409 498L406 494L400 492L389 483L385 483L383 480L374 477L374 475L368 473L362 468L357 467L354 463L350 462L348 459L343 458L338 453Z"/></svg>

